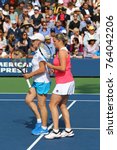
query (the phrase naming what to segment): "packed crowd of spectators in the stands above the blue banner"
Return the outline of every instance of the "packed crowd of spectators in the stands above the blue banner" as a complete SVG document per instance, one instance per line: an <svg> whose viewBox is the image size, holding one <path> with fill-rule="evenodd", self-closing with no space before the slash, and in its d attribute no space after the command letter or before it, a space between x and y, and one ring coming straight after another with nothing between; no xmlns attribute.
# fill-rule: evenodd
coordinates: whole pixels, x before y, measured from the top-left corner
<svg viewBox="0 0 117 150"><path fill-rule="evenodd" d="M32 55L38 32L53 56L53 38L63 33L71 58L99 58L100 0L0 0L0 58L16 49Z"/></svg>

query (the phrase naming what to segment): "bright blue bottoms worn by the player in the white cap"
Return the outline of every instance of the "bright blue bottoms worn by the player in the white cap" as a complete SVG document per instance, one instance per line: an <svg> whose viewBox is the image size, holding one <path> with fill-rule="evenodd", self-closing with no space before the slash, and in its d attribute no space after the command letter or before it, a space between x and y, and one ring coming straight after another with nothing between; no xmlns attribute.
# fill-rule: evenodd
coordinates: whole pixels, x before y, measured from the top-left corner
<svg viewBox="0 0 117 150"><path fill-rule="evenodd" d="M33 82L32 87L35 88L37 94L47 94L50 90L51 82Z"/></svg>

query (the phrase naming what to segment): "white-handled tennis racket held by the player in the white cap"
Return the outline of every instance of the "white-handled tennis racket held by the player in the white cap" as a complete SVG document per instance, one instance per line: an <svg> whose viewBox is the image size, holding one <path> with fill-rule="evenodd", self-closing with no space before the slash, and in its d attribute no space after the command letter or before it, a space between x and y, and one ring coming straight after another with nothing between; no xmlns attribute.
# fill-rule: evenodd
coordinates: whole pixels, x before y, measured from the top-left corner
<svg viewBox="0 0 117 150"><path fill-rule="evenodd" d="M25 74L27 72L27 66L28 66L28 58L27 54L22 50L14 50L11 54L11 61L13 63L13 66L20 70L22 74ZM26 79L26 82L28 84L28 87L31 88L31 84L29 79Z"/></svg>

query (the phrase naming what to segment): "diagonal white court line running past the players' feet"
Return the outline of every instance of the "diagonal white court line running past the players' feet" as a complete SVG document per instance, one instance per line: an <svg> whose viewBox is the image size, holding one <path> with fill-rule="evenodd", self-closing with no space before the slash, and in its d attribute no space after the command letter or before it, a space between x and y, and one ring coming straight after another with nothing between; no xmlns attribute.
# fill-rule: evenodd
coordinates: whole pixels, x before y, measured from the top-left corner
<svg viewBox="0 0 117 150"><path fill-rule="evenodd" d="M68 107L67 109L69 110L74 104L76 103L76 100L74 100ZM59 119L62 117L62 114L59 115ZM48 127L48 130L50 130L53 127L53 123ZM31 150L44 136L44 134L41 134L28 148L27 150Z"/></svg>

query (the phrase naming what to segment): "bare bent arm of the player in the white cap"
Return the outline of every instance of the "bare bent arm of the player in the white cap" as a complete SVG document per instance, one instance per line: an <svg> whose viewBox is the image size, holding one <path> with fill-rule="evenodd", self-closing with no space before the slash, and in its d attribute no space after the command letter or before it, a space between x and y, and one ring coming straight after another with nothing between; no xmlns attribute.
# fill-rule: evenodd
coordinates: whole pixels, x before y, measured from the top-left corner
<svg viewBox="0 0 117 150"><path fill-rule="evenodd" d="M35 75L44 73L46 71L46 66L45 65L46 65L46 63L44 61L40 61L39 62L39 69L36 70L36 71L30 72L30 73L24 74L24 77L26 79L28 79L28 78L31 78L31 77L33 77Z"/></svg>

